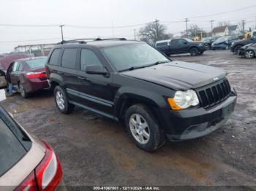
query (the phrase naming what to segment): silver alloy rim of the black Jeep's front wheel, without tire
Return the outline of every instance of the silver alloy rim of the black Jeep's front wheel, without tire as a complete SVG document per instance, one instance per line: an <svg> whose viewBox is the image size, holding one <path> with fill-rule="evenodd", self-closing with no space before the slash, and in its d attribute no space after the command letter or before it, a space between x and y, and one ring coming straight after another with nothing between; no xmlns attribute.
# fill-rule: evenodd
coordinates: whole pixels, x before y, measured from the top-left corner
<svg viewBox="0 0 256 191"><path fill-rule="evenodd" d="M140 114L132 114L129 118L129 128L132 136L140 144L147 144L150 139L148 123Z"/></svg>

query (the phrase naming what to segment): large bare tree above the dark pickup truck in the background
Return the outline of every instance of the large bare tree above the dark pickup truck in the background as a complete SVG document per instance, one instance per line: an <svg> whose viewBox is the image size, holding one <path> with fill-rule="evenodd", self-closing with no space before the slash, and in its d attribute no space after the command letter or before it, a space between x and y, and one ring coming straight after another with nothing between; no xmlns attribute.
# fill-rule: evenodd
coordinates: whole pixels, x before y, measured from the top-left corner
<svg viewBox="0 0 256 191"><path fill-rule="evenodd" d="M167 27L160 24L157 20L153 23L148 23L145 27L140 28L140 40L148 42L148 44L154 44L159 40L173 38L173 34L167 34L166 30Z"/></svg>

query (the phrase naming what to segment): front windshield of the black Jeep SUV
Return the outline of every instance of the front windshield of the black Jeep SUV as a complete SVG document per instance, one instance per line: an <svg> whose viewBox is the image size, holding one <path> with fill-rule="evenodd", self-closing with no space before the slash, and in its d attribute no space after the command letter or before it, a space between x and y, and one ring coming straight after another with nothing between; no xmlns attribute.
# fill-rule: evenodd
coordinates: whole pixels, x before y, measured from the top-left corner
<svg viewBox="0 0 256 191"><path fill-rule="evenodd" d="M102 52L117 71L170 62L160 52L144 43L105 47Z"/></svg>

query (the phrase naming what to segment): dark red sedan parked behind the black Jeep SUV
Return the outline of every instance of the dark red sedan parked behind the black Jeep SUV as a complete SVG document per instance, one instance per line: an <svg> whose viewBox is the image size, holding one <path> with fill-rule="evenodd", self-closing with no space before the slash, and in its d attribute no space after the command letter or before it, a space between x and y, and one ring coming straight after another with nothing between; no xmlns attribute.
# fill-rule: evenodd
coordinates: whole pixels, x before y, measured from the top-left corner
<svg viewBox="0 0 256 191"><path fill-rule="evenodd" d="M13 89L20 92L23 98L27 98L29 93L49 87L45 72L46 59L47 57L19 59L12 62L7 69L6 79L12 82ZM4 77L0 80L3 81ZM4 88L4 84L0 82L3 85L0 88Z"/></svg>

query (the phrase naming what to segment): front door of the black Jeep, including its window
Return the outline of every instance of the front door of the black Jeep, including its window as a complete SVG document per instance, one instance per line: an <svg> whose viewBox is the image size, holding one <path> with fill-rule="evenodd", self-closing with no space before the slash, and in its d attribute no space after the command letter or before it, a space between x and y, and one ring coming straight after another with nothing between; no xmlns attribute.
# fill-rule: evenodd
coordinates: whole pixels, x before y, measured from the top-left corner
<svg viewBox="0 0 256 191"><path fill-rule="evenodd" d="M80 104L97 109L107 114L113 113L113 91L111 76L86 74L86 66L100 65L105 67L93 50L81 49L79 54L78 80Z"/></svg>

